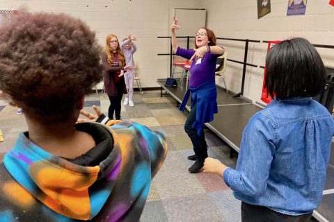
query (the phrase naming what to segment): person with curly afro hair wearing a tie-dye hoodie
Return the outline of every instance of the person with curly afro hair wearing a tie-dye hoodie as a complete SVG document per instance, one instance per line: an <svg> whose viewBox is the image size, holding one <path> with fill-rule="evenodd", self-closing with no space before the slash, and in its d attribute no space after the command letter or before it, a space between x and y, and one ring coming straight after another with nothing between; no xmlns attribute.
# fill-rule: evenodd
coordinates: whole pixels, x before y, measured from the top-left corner
<svg viewBox="0 0 334 222"><path fill-rule="evenodd" d="M28 126L0 161L0 221L139 221L166 139L81 110L102 80L101 51L65 14L23 11L0 24L0 92Z"/></svg>

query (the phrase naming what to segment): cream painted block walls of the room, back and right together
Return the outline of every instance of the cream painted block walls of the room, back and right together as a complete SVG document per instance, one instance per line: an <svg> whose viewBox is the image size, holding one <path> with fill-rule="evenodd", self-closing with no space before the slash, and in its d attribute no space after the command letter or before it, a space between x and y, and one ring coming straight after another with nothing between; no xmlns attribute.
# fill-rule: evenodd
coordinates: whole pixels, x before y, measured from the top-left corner
<svg viewBox="0 0 334 222"><path fill-rule="evenodd" d="M334 44L334 8L328 0L308 0L305 15L287 17L288 0L271 0L271 13L257 19L257 1L249 0L0 0L0 8L66 12L79 17L97 32L100 44L109 33L120 40L132 33L138 37L138 51L134 56L139 67L143 87L156 87L157 78L169 75L168 56L157 53L169 51L168 40L157 39L168 35L172 8L205 8L207 26L217 37L250 40L284 40L289 37L305 37L313 44ZM191 19L191 18L189 18ZM181 24L182 25L182 24ZM218 40L225 47L229 58L243 61L244 42ZM334 67L334 50L319 49L325 65ZM264 65L267 44L250 43L248 62ZM263 69L248 67L244 96L260 101ZM241 89L242 65L228 62L225 80L233 92ZM220 77L216 83L223 85Z"/></svg>

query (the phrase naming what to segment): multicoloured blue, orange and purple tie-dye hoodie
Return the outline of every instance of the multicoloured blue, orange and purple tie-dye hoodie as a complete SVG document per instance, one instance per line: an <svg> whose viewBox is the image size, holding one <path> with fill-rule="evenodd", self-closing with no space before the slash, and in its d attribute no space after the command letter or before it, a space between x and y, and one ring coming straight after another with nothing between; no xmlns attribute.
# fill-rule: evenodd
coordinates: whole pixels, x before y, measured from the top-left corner
<svg viewBox="0 0 334 222"><path fill-rule="evenodd" d="M91 167L19 135L0 162L0 221L139 221L166 157L164 135L130 122L76 127L95 139L93 152L79 158Z"/></svg>

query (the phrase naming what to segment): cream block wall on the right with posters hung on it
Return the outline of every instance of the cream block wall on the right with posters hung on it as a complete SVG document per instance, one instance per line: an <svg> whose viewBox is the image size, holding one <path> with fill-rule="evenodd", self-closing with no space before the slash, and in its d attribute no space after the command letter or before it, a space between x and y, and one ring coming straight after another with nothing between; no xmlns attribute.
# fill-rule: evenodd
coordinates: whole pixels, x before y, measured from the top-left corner
<svg viewBox="0 0 334 222"><path fill-rule="evenodd" d="M334 45L334 7L328 0L308 0L305 15L287 16L288 0L271 0L271 13L257 19L257 1L203 0L201 7L207 10L207 26L217 37L250 40L285 40L289 37L305 37L312 44ZM244 61L244 42L218 40L232 60ZM320 49L324 64L334 67L334 49ZM248 62L264 66L266 43L250 43ZM244 96L260 101L264 69L248 67ZM241 89L242 65L228 62L225 80L233 92ZM221 78L216 83L223 85Z"/></svg>

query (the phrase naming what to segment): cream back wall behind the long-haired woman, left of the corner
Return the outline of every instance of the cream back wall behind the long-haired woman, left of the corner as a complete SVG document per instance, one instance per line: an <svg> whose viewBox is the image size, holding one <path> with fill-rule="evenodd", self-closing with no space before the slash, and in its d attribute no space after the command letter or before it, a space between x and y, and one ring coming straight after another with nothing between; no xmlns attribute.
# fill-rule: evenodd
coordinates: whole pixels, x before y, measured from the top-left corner
<svg viewBox="0 0 334 222"><path fill-rule="evenodd" d="M167 36L172 8L198 8L198 0L0 0L1 9L24 7L29 11L65 12L83 19L97 33L102 46L109 33L122 41L129 33L137 37L134 62L142 87L157 87L157 78L169 77ZM136 84L135 84L136 87ZM102 85L99 85L102 88Z"/></svg>

